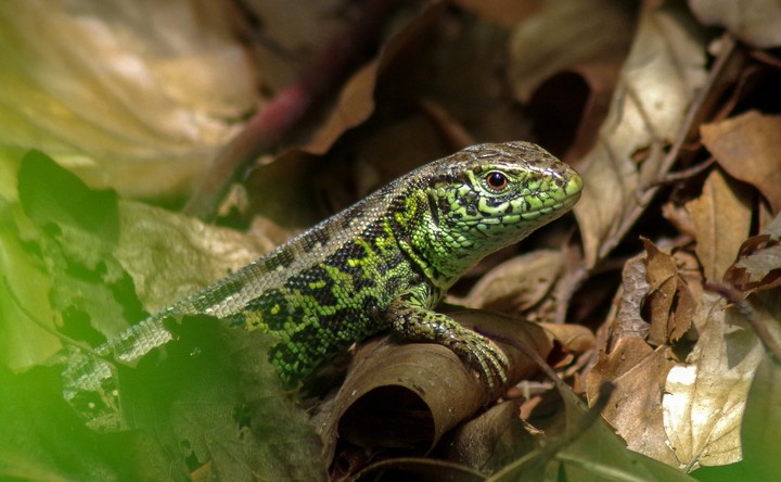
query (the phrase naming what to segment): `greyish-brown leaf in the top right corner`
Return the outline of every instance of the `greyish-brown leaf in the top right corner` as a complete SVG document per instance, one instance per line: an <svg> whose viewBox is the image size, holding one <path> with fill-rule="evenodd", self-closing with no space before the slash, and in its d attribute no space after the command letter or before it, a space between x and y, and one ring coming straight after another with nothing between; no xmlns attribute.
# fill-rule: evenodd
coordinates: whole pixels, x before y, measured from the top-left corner
<svg viewBox="0 0 781 482"><path fill-rule="evenodd" d="M718 25L754 47L781 46L781 4L774 0L689 0L705 25Z"/></svg>

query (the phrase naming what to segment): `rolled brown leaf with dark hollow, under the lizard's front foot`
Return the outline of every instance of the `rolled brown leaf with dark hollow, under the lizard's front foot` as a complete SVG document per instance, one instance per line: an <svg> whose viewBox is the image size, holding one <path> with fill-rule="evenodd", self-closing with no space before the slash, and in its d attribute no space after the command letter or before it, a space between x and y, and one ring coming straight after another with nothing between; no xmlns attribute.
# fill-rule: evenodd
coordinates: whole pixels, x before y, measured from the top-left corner
<svg viewBox="0 0 781 482"><path fill-rule="evenodd" d="M482 312L452 316L498 340L509 359L511 385L538 371L524 351L546 358L552 348L552 335L536 324ZM488 402L483 381L450 350L431 343L399 344L390 337L375 339L361 344L332 411L323 417L324 454L331 460L338 440L366 448L425 452Z"/></svg>

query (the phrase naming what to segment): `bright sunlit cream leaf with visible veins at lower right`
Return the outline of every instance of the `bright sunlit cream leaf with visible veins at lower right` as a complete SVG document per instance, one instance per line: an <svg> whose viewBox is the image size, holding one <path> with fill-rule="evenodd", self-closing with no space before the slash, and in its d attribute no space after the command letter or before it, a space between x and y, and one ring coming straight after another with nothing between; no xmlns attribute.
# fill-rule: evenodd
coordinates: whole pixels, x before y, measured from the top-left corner
<svg viewBox="0 0 781 482"><path fill-rule="evenodd" d="M679 467L741 459L740 427L748 388L764 350L738 312L706 293L695 315L700 338L667 376L664 424Z"/></svg>

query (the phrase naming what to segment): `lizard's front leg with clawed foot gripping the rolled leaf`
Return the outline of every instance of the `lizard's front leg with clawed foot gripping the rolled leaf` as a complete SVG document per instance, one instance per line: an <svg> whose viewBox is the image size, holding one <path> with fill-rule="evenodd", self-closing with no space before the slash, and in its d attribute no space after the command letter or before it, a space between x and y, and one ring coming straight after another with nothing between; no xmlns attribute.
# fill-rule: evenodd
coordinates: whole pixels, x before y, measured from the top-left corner
<svg viewBox="0 0 781 482"><path fill-rule="evenodd" d="M447 315L428 308L431 289L417 284L390 302L385 320L405 340L433 342L450 348L474 367L489 393L507 385L508 360L483 335L470 331Z"/></svg>

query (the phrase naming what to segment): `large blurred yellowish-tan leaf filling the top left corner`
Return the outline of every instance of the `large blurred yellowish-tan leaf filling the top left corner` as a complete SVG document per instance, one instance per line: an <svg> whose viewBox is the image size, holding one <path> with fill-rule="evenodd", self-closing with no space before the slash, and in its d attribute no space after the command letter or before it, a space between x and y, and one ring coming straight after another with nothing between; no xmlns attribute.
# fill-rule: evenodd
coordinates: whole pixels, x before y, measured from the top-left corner
<svg viewBox="0 0 781 482"><path fill-rule="evenodd" d="M259 100L229 22L212 2L3 2L0 143L127 195L181 193Z"/></svg>

